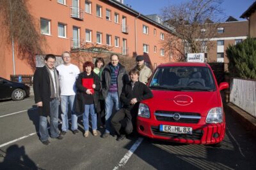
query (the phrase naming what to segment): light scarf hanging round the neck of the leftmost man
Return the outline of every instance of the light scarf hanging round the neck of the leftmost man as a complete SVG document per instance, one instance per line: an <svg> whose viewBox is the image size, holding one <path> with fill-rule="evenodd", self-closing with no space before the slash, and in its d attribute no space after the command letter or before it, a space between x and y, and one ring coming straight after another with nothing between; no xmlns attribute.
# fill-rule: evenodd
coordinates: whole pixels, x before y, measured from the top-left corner
<svg viewBox="0 0 256 170"><path fill-rule="evenodd" d="M55 86L56 86L56 93L54 90L54 83L53 83L53 78L52 78L52 74L50 69L46 66L47 68L47 72L49 74L49 78L50 78L50 87L51 87L51 99L57 98L58 101L60 101L60 83L59 83L59 76L57 74L57 70L55 68L53 73L54 73L54 82L55 82Z"/></svg>

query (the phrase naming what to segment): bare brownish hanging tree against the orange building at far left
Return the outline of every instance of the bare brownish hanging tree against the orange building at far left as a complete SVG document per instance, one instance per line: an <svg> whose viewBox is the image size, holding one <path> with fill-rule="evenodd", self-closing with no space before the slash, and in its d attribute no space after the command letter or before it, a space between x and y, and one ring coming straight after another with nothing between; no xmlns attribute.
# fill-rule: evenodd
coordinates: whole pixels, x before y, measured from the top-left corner
<svg viewBox="0 0 256 170"><path fill-rule="evenodd" d="M0 22L6 32L6 43L15 43L15 51L21 60L26 60L35 69L36 53L43 53L46 41L37 31L35 20L29 14L27 0L1 0Z"/></svg>

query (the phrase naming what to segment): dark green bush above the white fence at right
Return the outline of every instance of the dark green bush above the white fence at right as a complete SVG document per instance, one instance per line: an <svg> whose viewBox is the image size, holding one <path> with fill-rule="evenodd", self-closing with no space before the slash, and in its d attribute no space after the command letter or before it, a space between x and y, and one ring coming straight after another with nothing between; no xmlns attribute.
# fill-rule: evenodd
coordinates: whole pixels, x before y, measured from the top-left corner
<svg viewBox="0 0 256 170"><path fill-rule="evenodd" d="M229 45L227 50L229 59L228 70L231 76L256 79L256 40L245 39L237 45Z"/></svg>

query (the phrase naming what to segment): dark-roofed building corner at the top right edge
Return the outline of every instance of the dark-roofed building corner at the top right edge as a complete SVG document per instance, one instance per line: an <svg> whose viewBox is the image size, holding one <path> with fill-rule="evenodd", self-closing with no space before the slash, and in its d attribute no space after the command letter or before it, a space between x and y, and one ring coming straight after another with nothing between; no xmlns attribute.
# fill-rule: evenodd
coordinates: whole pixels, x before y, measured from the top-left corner
<svg viewBox="0 0 256 170"><path fill-rule="evenodd" d="M252 38L256 37L256 1L241 15L241 18L245 18L249 22L248 32Z"/></svg>

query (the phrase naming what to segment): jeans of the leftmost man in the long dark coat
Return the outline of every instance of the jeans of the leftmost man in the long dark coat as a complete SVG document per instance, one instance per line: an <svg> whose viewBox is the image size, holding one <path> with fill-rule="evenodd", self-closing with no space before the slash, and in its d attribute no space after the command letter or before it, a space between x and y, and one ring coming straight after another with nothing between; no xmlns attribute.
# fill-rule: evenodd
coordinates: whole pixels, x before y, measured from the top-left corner
<svg viewBox="0 0 256 170"><path fill-rule="evenodd" d="M43 103L44 104L44 103ZM58 130L58 114L59 114L59 101L53 99L50 101L50 132L51 138L57 138L59 136ZM47 130L47 117L40 116L39 118L39 134L41 141L47 141L49 133Z"/></svg>

